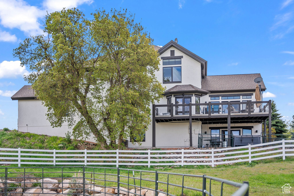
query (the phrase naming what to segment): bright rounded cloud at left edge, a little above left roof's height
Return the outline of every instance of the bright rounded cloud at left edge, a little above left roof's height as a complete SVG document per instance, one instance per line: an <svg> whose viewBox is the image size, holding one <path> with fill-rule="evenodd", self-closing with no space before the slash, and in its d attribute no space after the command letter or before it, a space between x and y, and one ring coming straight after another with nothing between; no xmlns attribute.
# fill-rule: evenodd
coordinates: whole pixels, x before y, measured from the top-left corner
<svg viewBox="0 0 294 196"><path fill-rule="evenodd" d="M0 63L0 78L17 78L19 76L29 75L26 67L20 66L20 61L6 61Z"/></svg>

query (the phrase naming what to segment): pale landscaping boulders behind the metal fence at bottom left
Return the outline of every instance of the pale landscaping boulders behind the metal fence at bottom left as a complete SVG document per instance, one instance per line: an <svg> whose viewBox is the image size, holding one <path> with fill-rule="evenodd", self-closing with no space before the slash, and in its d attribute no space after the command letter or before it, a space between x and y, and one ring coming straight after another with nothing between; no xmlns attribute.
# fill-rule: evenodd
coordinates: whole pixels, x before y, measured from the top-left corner
<svg viewBox="0 0 294 196"><path fill-rule="evenodd" d="M76 176L73 176L76 177ZM34 187L34 185L37 185ZM40 180L26 179L25 183L22 181L18 183L16 181L7 180L7 192L9 196L68 196L83 193L83 180L82 178L71 178L62 181L44 178ZM18 187L12 189L9 187ZM25 191L24 191L24 187ZM78 189L80 188L80 189ZM134 193L140 194L140 189L128 189L119 187L119 196L135 196ZM4 191L4 183L0 183L0 192ZM85 193L91 196L112 196L118 195L117 187L106 187L93 185L91 182L86 181ZM155 191L141 189L141 195L154 196ZM158 193L159 196L166 196L165 194Z"/></svg>

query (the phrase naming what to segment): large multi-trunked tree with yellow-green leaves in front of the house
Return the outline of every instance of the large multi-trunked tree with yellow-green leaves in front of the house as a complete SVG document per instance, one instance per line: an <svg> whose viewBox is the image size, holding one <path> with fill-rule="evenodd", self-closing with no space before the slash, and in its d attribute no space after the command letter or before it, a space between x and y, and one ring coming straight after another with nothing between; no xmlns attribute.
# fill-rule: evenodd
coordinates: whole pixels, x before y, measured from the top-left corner
<svg viewBox="0 0 294 196"><path fill-rule="evenodd" d="M93 134L102 149L136 141L150 124L150 104L164 88L156 80L153 39L126 10L99 10L88 20L77 9L46 15L44 35L14 50L25 80L48 107L51 125L67 122L75 137Z"/></svg>

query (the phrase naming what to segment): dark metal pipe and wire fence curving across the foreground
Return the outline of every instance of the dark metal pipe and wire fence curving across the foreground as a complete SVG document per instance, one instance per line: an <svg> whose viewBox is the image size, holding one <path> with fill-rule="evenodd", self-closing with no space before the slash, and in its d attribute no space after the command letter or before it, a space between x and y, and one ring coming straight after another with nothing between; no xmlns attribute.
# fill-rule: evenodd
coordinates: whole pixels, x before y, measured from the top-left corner
<svg viewBox="0 0 294 196"><path fill-rule="evenodd" d="M143 196L148 191L155 196L188 196L196 192L204 196L223 195L227 188L234 196L249 194L248 182L236 183L207 175L111 167L0 168L0 179L0 195L4 196Z"/></svg>

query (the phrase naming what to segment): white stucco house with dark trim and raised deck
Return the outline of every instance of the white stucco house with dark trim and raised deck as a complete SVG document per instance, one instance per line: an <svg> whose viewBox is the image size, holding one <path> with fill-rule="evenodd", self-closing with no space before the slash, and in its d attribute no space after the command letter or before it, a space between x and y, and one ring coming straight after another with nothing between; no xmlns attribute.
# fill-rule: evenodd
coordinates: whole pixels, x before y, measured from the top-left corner
<svg viewBox="0 0 294 196"><path fill-rule="evenodd" d="M208 76L207 61L178 43L170 41L154 48L160 59L156 77L166 91L150 106L152 121L141 146L128 142L129 148L226 147L234 145L233 137L253 141L265 132L262 123L271 120L271 100L255 102L254 79L261 77L259 73ZM260 85L264 92L264 83ZM71 131L67 124L50 126L47 109L30 85L11 99L18 100L19 131L51 136Z"/></svg>

